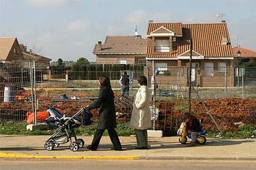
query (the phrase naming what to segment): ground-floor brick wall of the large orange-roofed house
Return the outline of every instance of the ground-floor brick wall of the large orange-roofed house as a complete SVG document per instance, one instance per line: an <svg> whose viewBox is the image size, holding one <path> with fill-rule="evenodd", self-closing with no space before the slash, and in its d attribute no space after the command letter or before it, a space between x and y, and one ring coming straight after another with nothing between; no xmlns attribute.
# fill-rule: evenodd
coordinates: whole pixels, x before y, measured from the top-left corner
<svg viewBox="0 0 256 170"><path fill-rule="evenodd" d="M198 63L198 68L195 70L195 84L199 87L232 87L234 86L234 68L232 67L232 60L192 60L192 62ZM213 63L213 76L205 75L205 62ZM218 62L226 62L226 78L225 73L218 72ZM158 75L158 83L163 84L187 84L187 68L189 67L189 60L155 60L155 63L167 63L169 75ZM182 71L182 79L178 75ZM147 67L144 70L144 75L148 77L148 83L152 76L152 63L151 60L147 60ZM226 80L225 80L226 79Z"/></svg>

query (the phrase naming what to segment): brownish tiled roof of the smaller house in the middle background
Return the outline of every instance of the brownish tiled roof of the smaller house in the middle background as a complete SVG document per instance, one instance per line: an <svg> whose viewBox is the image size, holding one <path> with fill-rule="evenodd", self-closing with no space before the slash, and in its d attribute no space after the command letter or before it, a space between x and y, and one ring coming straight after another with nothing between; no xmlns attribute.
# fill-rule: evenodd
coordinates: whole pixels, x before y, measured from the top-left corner
<svg viewBox="0 0 256 170"><path fill-rule="evenodd" d="M141 36L107 36L105 44L95 45L93 54L145 54L147 39Z"/></svg>

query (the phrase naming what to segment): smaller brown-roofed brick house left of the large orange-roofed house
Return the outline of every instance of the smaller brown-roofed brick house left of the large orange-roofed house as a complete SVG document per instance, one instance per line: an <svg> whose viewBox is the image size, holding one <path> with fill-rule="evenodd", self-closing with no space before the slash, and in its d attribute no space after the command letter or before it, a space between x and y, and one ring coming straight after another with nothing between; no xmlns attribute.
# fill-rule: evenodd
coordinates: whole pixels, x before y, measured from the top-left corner
<svg viewBox="0 0 256 170"><path fill-rule="evenodd" d="M93 54L96 64L145 63L147 39L142 36L106 36L104 44L98 41Z"/></svg>

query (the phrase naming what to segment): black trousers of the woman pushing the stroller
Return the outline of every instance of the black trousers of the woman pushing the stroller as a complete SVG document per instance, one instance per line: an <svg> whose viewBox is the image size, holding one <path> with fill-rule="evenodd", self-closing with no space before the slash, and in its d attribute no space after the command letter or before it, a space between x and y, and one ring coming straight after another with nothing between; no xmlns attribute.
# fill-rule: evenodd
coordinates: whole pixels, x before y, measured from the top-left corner
<svg viewBox="0 0 256 170"><path fill-rule="evenodd" d="M104 131L105 131L105 129L97 129L96 130L94 137L93 137L92 144L90 146L90 148L92 150L96 150L98 148L98 145L100 144L100 139L101 139ZM110 137L112 144L114 145L114 149L121 150L122 146L121 146L120 140L117 136L116 130L108 129L108 135Z"/></svg>

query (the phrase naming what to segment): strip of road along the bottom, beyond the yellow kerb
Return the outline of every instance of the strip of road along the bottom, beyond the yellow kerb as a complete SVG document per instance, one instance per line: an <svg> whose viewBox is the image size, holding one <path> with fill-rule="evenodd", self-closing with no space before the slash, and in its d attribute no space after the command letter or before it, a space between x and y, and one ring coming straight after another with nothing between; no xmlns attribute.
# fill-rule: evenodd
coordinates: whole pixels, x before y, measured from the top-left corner
<svg viewBox="0 0 256 170"><path fill-rule="evenodd" d="M0 169L255 169L255 161L213 160L15 160L1 159Z"/></svg>

